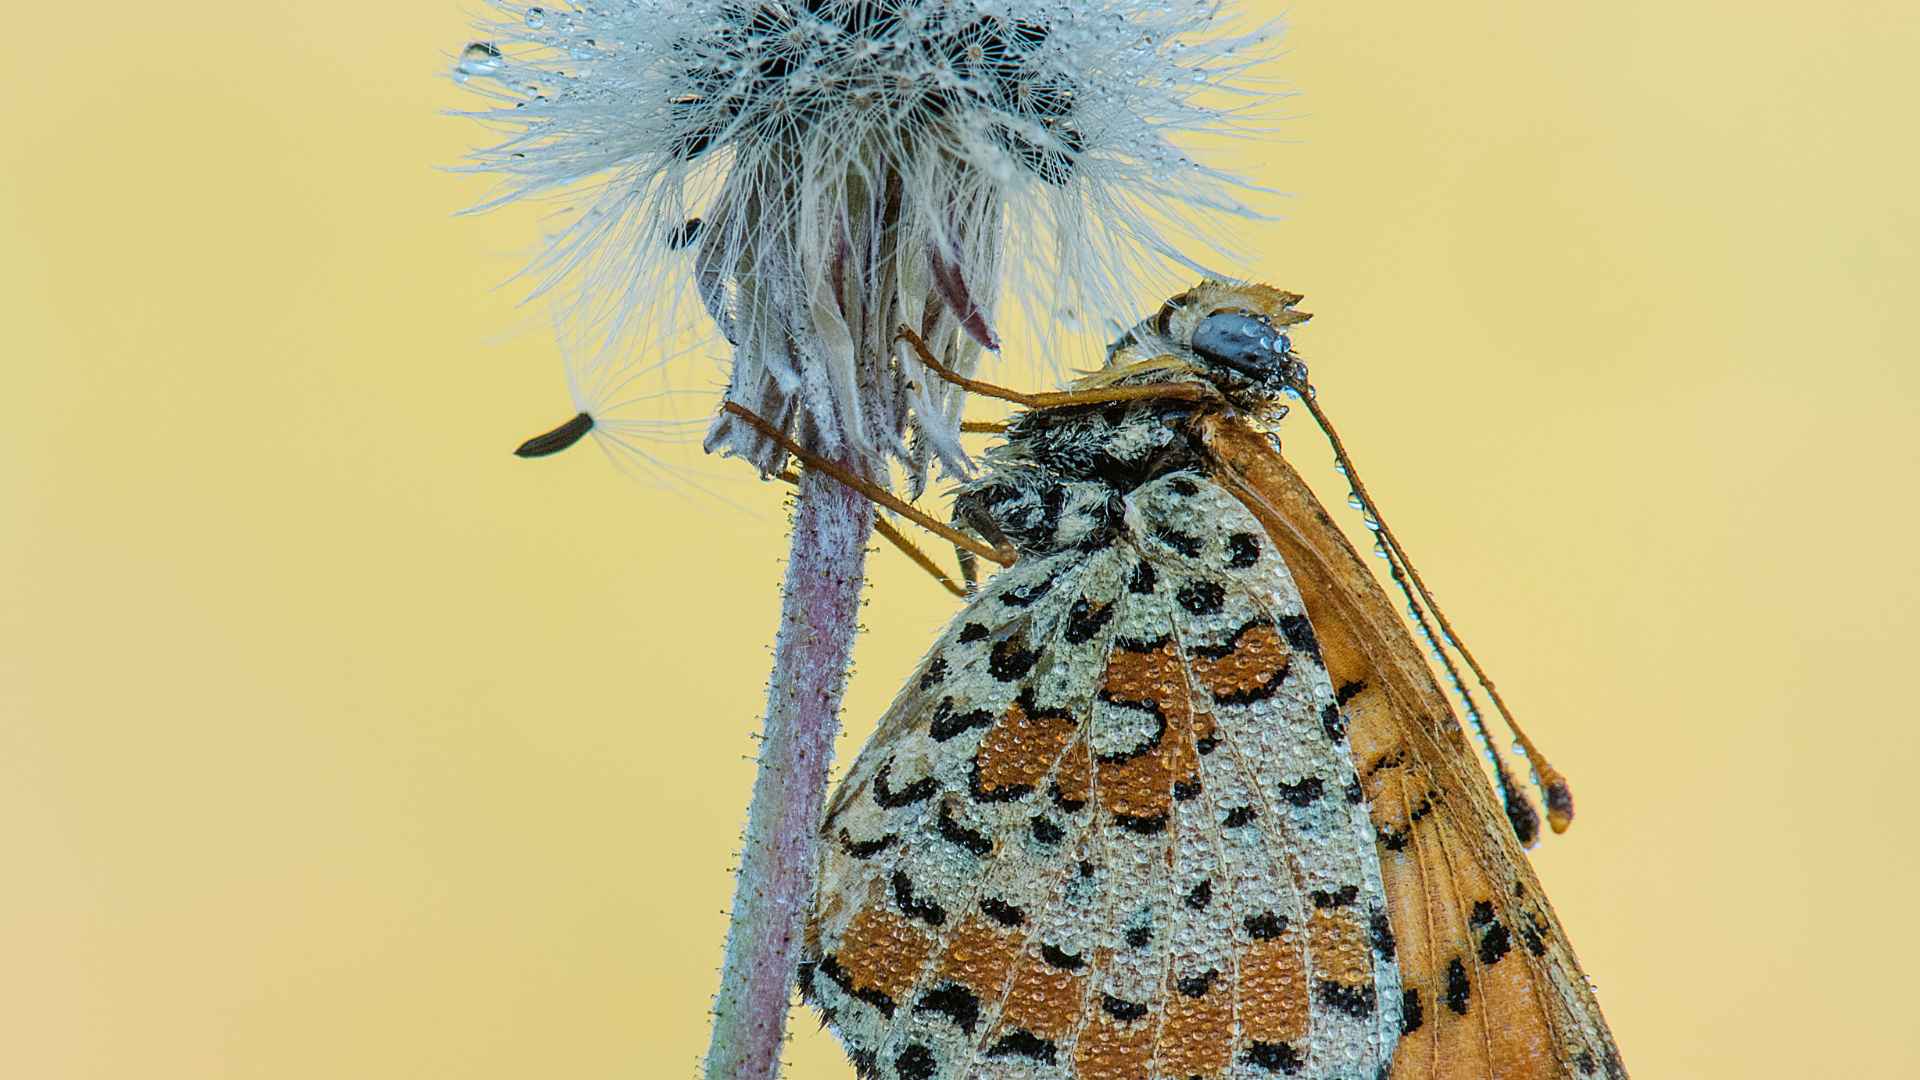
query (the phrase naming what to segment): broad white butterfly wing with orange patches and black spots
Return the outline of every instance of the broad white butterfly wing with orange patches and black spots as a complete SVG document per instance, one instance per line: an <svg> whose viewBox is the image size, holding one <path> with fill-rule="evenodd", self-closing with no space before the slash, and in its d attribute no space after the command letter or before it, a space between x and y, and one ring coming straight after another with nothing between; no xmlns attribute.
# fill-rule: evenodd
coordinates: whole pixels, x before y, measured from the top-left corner
<svg viewBox="0 0 1920 1080"><path fill-rule="evenodd" d="M1334 690L1194 475L1025 557L835 794L803 994L864 1076L1371 1076L1400 982Z"/></svg>

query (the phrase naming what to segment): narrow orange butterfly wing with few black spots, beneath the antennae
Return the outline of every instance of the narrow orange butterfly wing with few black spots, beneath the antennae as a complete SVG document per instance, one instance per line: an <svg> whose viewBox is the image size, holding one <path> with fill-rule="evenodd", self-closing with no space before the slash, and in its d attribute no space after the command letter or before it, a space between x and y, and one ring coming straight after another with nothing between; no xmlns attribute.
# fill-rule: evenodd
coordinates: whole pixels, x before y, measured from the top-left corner
<svg viewBox="0 0 1920 1080"><path fill-rule="evenodd" d="M1217 479L1294 571L1379 836L1404 982L1396 1078L1624 1078L1572 947L1398 609L1298 473L1231 417Z"/></svg>

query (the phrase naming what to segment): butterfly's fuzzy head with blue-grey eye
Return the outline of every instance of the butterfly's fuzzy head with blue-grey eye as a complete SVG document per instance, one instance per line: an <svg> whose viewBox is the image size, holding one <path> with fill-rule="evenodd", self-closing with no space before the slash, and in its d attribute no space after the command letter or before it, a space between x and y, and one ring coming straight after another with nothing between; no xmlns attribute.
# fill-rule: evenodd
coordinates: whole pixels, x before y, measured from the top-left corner
<svg viewBox="0 0 1920 1080"><path fill-rule="evenodd" d="M1204 281L1167 300L1108 348L1108 373L1181 373L1212 382L1236 405L1271 407L1290 386L1306 386L1306 363L1288 329L1309 315L1300 294L1265 284Z"/></svg>

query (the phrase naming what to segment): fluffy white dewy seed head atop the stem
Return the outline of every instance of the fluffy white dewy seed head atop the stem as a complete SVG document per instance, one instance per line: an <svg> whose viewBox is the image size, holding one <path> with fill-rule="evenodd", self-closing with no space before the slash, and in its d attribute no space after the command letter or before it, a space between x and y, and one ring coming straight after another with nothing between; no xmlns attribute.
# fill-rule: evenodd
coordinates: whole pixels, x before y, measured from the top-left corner
<svg viewBox="0 0 1920 1080"><path fill-rule="evenodd" d="M538 258L595 367L687 317L732 346L728 398L883 473L964 467L962 396L1014 298L1043 340L1219 258L1254 190L1183 138L1260 129L1269 29L1217 0L493 0L455 75L501 136L472 167L570 198ZM1235 98L1238 94L1238 98ZM1204 100L1202 100L1204 98ZM1227 102L1225 106L1221 102ZM716 423L708 448L778 452Z"/></svg>

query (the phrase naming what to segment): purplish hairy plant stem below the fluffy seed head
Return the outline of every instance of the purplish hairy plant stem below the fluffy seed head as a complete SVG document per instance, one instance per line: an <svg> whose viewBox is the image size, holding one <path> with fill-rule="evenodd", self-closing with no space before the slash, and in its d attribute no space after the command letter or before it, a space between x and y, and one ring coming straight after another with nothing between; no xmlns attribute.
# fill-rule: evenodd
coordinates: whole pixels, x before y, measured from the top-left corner
<svg viewBox="0 0 1920 1080"><path fill-rule="evenodd" d="M707 1080L780 1072L872 528L874 507L858 492L812 469L801 477Z"/></svg>

